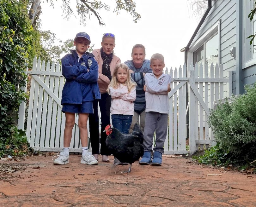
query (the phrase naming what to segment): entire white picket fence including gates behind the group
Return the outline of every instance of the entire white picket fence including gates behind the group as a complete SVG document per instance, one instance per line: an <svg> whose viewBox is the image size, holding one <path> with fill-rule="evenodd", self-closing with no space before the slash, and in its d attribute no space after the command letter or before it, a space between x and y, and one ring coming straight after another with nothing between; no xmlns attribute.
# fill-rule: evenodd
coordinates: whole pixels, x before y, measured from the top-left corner
<svg viewBox="0 0 256 207"><path fill-rule="evenodd" d="M199 76L196 75L198 74ZM218 64L191 65L187 71L186 65L170 71L172 77L169 112L169 126L167 139L164 145L165 154L193 154L196 150L208 147L214 141L207 124L209 108L213 108L214 100L223 98L223 84L227 83L227 95L231 95L232 72L228 78L223 78L223 67ZM61 75L59 63L45 65L40 58L34 58L33 70L27 71L31 75L29 106L27 116L27 137L30 146L40 151L61 151L63 148L63 134L65 116L61 112L61 94L64 86L64 77ZM187 77L186 74L189 74ZM230 75L231 74L231 75ZM229 78L230 77L230 78ZM210 86L210 87L209 87ZM188 88L188 103L186 103L186 88ZM25 89L24 89L25 90ZM19 127L24 126L25 107L19 111ZM187 123L186 116L189 116ZM75 119L72 132L70 152L81 152L79 139L78 118ZM189 125L189 151L186 150L187 124ZM89 137L89 126L88 126Z"/></svg>

